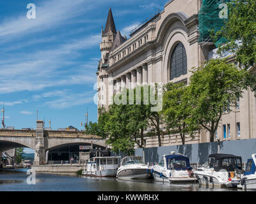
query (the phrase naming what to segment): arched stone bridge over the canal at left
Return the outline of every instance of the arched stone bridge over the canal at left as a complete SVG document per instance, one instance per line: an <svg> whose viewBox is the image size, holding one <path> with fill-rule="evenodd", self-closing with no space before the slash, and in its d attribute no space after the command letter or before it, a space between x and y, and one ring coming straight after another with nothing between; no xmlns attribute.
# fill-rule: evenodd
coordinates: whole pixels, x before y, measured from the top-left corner
<svg viewBox="0 0 256 204"><path fill-rule="evenodd" d="M45 163L47 150L72 144L106 147L106 141L99 136L86 135L81 131L45 130L43 120L36 120L35 130L0 129L0 152L28 147L35 150L35 164Z"/></svg>

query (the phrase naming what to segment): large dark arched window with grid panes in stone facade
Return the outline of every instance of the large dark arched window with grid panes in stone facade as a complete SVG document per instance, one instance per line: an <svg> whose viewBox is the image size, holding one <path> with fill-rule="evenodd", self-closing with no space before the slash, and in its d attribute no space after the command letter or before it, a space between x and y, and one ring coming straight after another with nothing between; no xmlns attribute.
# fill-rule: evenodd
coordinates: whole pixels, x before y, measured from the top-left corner
<svg viewBox="0 0 256 204"><path fill-rule="evenodd" d="M170 61L170 80L180 77L181 75L186 75L187 73L186 50L182 43L178 43L173 49Z"/></svg>

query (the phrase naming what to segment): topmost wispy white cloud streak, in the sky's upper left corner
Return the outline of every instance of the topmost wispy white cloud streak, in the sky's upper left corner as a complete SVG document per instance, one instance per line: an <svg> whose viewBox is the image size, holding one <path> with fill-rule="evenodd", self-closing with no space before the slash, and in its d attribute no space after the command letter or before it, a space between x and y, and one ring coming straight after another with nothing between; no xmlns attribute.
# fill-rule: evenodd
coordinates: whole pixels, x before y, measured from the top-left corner
<svg viewBox="0 0 256 204"><path fill-rule="evenodd" d="M60 26L67 23L67 20L90 10L92 6L84 6L86 2L86 0L62 0L60 3L58 0L52 0L36 4L36 19L28 19L26 12L19 17L5 19L0 24L0 36L12 38L17 34L20 36Z"/></svg>

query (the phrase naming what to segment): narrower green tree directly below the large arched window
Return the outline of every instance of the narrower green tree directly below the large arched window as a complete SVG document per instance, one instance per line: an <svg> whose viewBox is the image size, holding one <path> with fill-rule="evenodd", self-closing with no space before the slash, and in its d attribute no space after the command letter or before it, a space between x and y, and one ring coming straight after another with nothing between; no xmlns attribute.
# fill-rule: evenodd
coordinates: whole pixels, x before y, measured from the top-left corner
<svg viewBox="0 0 256 204"><path fill-rule="evenodd" d="M193 107L189 105L189 87L183 83L167 84L163 96L164 123L169 134L179 133L183 145L186 135L198 130L197 125L188 122L192 111Z"/></svg>

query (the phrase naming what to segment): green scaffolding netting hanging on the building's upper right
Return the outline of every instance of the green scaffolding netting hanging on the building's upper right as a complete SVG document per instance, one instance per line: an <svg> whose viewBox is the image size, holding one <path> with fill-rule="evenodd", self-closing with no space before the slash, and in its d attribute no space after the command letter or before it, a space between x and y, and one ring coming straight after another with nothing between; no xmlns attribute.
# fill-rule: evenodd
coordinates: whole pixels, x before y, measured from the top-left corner
<svg viewBox="0 0 256 204"><path fill-rule="evenodd" d="M211 30L213 29L214 34L221 30L221 27L225 25L227 18L225 15L225 8L223 4L226 4L230 0L202 0L202 7L198 13L199 21L199 43L201 42L212 42ZM220 18L221 15L221 18ZM215 42L216 47L226 42L225 38L218 38Z"/></svg>

